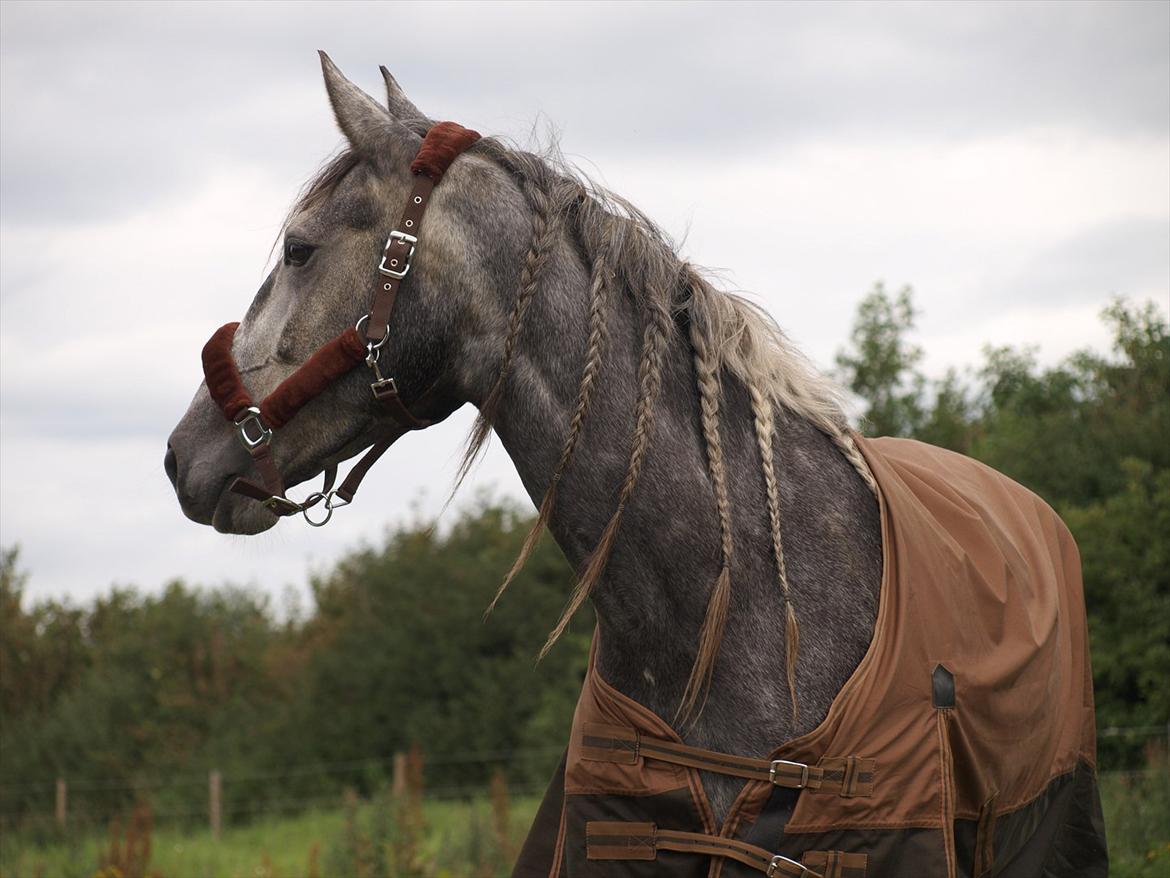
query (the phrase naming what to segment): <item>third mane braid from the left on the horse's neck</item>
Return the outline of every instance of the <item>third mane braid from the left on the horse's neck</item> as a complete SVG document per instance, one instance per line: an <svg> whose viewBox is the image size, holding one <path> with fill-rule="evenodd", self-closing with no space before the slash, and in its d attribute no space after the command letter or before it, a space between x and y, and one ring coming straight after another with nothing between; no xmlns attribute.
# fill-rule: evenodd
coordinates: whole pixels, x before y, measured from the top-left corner
<svg viewBox="0 0 1170 878"><path fill-rule="evenodd" d="M646 451L649 448L651 435L654 432L654 403L658 400L659 391L662 387L662 366L666 358L666 348L674 329L670 309L665 304L663 299L668 299L668 296L647 296L648 315L646 329L642 332L641 362L638 365L640 396L634 406L634 434L629 447L629 462L626 466L626 475L621 481L621 488L618 491L617 508L614 508L610 522L605 526L605 530L601 531L601 539L598 540L597 547L585 562L585 569L573 587L569 603L565 605L564 612L560 613L560 619L549 633L549 639L545 640L544 646L541 649L541 658L544 658L549 653L552 645L565 632L569 620L577 613L581 604L585 603L585 598L590 596L593 587L601 578L601 574L605 572L606 562L610 560L610 554L613 550L613 541L618 535L618 527L621 524L621 514L625 512L626 503L634 493L634 486L638 485L638 476L641 475L642 464L646 460Z"/></svg>

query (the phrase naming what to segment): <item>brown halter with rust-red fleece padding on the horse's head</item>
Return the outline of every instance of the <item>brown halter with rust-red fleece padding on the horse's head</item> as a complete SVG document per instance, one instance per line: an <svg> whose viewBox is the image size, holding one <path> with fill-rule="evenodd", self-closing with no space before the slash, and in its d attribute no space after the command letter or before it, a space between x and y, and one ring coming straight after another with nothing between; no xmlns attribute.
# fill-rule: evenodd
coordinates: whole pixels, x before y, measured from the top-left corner
<svg viewBox="0 0 1170 878"><path fill-rule="evenodd" d="M398 226L386 238L381 261L378 263L377 287L370 311L356 327L346 329L336 338L318 348L300 369L281 382L259 404L253 402L240 376L240 369L232 356L232 341L239 323L227 323L215 330L204 345L204 377L212 399L223 416L235 424L243 447L255 464L260 481L242 476L232 482L230 491L263 503L276 515L302 513L305 521L315 527L324 524L333 509L353 500L362 479L370 467L404 433L422 430L432 421L415 418L399 396L398 384L392 376L384 376L378 366L378 357L390 338L390 318L394 313L394 301L402 281L411 270L411 261L419 242L422 213L431 193L443 173L459 155L480 139L480 135L454 122L440 122L427 131L411 171L414 186ZM349 476L333 488L336 469L325 474L321 491L314 492L304 501L297 502L284 495L284 480L271 457L273 432L289 423L310 400L324 392L329 385L346 375L358 363L365 362L373 373L370 391L386 414L395 423L363 455ZM309 517L309 509L323 503L325 514L319 520Z"/></svg>

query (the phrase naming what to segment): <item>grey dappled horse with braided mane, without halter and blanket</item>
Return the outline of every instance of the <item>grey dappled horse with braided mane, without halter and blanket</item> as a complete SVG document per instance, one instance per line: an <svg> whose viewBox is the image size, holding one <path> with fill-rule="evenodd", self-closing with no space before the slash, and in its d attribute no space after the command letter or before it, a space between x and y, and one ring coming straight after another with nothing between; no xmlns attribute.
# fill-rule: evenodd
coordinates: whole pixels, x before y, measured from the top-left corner
<svg viewBox="0 0 1170 878"><path fill-rule="evenodd" d="M365 314L433 124L385 70L387 105L323 66L349 145L288 218L236 332L256 398ZM468 461L489 428L500 437L580 571L553 637L591 598L599 671L681 719L687 743L763 756L814 728L869 644L882 563L872 476L833 385L553 157L480 140L435 188L420 239L381 365L420 418L480 410ZM290 485L390 428L364 371L281 431ZM250 459L206 385L166 468L193 521L234 534L278 521L227 491ZM722 816L742 781L704 787Z"/></svg>

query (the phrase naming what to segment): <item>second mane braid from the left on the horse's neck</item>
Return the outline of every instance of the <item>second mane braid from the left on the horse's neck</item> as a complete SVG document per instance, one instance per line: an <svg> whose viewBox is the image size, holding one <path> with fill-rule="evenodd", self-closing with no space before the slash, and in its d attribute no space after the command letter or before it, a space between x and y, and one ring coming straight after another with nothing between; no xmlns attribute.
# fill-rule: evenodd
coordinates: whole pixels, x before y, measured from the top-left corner
<svg viewBox="0 0 1170 878"><path fill-rule="evenodd" d="M504 577L504 581L496 590L496 595L491 598L491 603L488 605L484 616L495 609L496 603L498 603L501 596L504 594L504 589L507 589L511 581L516 577L516 574L523 569L529 556L532 554L532 549L536 548L537 539L541 536L541 531L544 530L549 517L552 515L552 507L556 503L557 487L560 485L560 476L564 475L565 469L569 467L569 462L572 460L573 452L577 450L577 443L581 435L581 430L585 426L585 418L589 414L590 404L593 402L593 390L597 387L598 378L601 375L603 357L610 341L608 309L611 306L611 294L613 291L613 274L610 270L608 258L610 249L611 247L608 242L606 242L593 258L593 265L591 266L590 330L589 343L585 349L585 368L581 370L580 383L577 386L577 409L573 411L573 417L569 423L569 435L565 438L565 445L560 452L560 460L557 461L557 466L552 471L552 478L549 480L549 487L544 492L544 499L541 501L539 513L536 516L536 521L532 522L532 527L529 529L528 535L524 537L524 544L519 550L519 555L516 556L516 561L512 562L511 570L508 571L508 576Z"/></svg>

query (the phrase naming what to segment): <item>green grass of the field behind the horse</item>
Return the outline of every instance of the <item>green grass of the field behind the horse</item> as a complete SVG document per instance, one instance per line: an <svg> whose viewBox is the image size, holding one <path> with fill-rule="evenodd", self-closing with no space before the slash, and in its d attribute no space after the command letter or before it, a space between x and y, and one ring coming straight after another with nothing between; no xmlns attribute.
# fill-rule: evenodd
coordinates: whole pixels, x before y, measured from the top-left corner
<svg viewBox="0 0 1170 878"><path fill-rule="evenodd" d="M1101 775L1113 878L1170 874L1170 773ZM226 829L219 843L206 830L161 826L151 836L147 876L161 878L374 878L388 872L433 878L507 874L539 804L517 798L426 801L421 830L404 838L410 822L386 801L271 816ZM500 821L507 829L501 837ZM418 824L415 824L418 825ZM410 834L407 834L410 835ZM109 838L89 835L35 843L0 839L0 878L95 878ZM398 850L397 867L371 857ZM407 850L408 849L408 850ZM381 853L379 853L381 851ZM404 853L405 851L405 853ZM113 878L109 872L102 878ZM131 878L123 874L121 878Z"/></svg>

